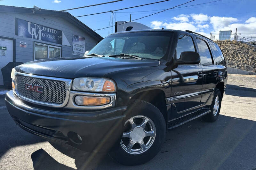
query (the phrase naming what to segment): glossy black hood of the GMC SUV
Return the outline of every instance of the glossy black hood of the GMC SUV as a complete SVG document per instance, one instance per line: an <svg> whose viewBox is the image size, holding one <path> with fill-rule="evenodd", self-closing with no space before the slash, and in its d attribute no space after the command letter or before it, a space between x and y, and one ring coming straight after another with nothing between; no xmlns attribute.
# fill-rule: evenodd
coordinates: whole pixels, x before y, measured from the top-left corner
<svg viewBox="0 0 256 170"><path fill-rule="evenodd" d="M104 77L132 68L158 66L158 60L134 60L111 57L72 57L36 60L15 67L16 71L58 78Z"/></svg>

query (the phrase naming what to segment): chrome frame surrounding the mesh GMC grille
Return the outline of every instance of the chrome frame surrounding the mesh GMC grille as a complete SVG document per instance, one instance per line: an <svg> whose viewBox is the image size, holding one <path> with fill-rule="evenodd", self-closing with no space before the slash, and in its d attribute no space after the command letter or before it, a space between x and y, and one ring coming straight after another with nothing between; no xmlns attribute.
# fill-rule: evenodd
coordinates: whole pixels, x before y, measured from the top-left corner
<svg viewBox="0 0 256 170"><path fill-rule="evenodd" d="M32 78L41 78L41 79L47 79L47 80L54 80L54 81L61 81L61 82L64 82L67 85L66 98L65 98L64 102L61 103L61 104L54 104L54 103L50 103L50 102L44 102L44 101L40 101L40 100L30 99L30 98L27 98L25 96L20 95L18 90L15 90L17 96L20 99L26 100L26 101L31 102L31 103L39 104L39 105L42 105L42 106L64 107L64 106L67 105L68 98L69 98L69 93L70 93L71 85L72 85L72 80L71 79L37 76L37 75L33 75L33 74L26 74L26 73L20 73L20 72L15 73L15 78L16 78L16 75L32 77ZM16 87L18 87L18 85L17 85L17 82L15 81L15 89L16 89Z"/></svg>

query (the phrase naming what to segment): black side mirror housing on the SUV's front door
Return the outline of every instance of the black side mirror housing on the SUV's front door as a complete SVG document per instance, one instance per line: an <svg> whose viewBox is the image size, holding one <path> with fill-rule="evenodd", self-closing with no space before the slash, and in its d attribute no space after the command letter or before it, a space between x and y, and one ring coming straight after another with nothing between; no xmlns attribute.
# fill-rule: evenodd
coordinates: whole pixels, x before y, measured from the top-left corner
<svg viewBox="0 0 256 170"><path fill-rule="evenodd" d="M197 52L183 51L180 54L180 58L174 59L174 64L199 64L200 61L200 56Z"/></svg>

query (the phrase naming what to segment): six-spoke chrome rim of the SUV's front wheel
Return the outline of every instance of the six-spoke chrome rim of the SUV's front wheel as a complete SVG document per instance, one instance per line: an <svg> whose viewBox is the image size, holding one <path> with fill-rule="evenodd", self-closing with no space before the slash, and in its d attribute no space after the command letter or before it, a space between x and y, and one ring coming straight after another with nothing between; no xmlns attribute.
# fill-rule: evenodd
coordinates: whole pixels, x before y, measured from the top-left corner
<svg viewBox="0 0 256 170"><path fill-rule="evenodd" d="M156 127L147 116L133 116L124 124L124 133L120 142L124 151L140 154L147 151L156 138Z"/></svg>

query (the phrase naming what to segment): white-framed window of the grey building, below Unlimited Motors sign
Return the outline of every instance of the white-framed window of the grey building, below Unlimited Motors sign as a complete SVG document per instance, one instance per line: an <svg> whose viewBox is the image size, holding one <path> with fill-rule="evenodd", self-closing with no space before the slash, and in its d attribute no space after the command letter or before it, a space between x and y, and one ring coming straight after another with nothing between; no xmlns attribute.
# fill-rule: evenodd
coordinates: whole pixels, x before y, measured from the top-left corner
<svg viewBox="0 0 256 170"><path fill-rule="evenodd" d="M34 59L59 58L61 57L61 47L41 44L35 42Z"/></svg>

